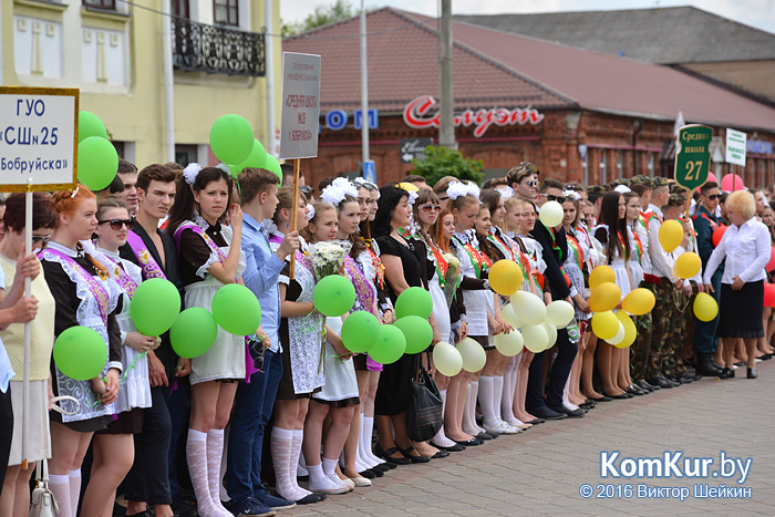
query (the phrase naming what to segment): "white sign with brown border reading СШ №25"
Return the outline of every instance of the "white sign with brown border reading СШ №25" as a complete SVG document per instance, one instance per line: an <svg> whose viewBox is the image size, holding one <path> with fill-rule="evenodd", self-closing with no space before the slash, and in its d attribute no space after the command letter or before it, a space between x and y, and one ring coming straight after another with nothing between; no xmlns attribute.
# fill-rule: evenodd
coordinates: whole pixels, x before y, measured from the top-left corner
<svg viewBox="0 0 775 517"><path fill-rule="evenodd" d="M0 190L75 187L76 89L0 87Z"/></svg>

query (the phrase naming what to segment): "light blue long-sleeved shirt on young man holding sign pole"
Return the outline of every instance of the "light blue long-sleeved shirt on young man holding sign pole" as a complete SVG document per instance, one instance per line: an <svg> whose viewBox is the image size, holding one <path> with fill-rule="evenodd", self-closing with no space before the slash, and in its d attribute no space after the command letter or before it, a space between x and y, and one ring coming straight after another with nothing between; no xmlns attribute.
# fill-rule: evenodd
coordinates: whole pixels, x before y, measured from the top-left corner
<svg viewBox="0 0 775 517"><path fill-rule="evenodd" d="M275 255L264 225L247 214L242 215L242 251L247 267L242 273L245 286L261 304L261 328L269 335L269 350L280 350L280 288L278 278L286 262Z"/></svg>

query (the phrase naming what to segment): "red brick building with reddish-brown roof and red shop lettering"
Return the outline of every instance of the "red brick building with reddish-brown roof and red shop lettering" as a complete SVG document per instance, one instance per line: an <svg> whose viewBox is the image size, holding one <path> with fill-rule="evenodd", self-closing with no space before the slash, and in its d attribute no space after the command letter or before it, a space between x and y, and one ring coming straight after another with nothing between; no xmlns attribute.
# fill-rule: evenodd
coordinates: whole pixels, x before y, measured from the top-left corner
<svg viewBox="0 0 775 517"><path fill-rule="evenodd" d="M437 20L392 8L368 15L370 131L380 183L413 168L402 143L437 137ZM283 50L322 55L318 158L308 182L354 173L361 159L359 22L344 20L283 41ZM712 170L723 164L725 127L745 131L745 182L775 179L775 108L668 66L453 23L456 138L487 177L521 161L544 176L587 184L633 174L672 175L679 111L713 127ZM752 152L755 151L755 152ZM736 173L742 173L738 167Z"/></svg>

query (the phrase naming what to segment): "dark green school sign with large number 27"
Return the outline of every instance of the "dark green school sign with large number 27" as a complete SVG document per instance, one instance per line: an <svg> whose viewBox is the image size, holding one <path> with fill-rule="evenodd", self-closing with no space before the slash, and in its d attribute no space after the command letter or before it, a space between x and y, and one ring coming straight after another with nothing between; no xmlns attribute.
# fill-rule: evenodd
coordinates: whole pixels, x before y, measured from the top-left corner
<svg viewBox="0 0 775 517"><path fill-rule="evenodd" d="M707 182L711 172L711 136L713 130L690 124L679 130L679 147L675 153L675 180L693 190Z"/></svg>

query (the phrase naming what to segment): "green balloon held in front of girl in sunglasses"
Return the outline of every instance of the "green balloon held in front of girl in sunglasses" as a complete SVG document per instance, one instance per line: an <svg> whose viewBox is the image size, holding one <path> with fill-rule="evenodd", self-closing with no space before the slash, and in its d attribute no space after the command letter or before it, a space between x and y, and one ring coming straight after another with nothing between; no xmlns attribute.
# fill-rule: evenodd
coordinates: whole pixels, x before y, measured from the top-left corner
<svg viewBox="0 0 775 517"><path fill-rule="evenodd" d="M162 335L180 313L180 293L169 280L152 278L135 289L130 313L137 332Z"/></svg>

